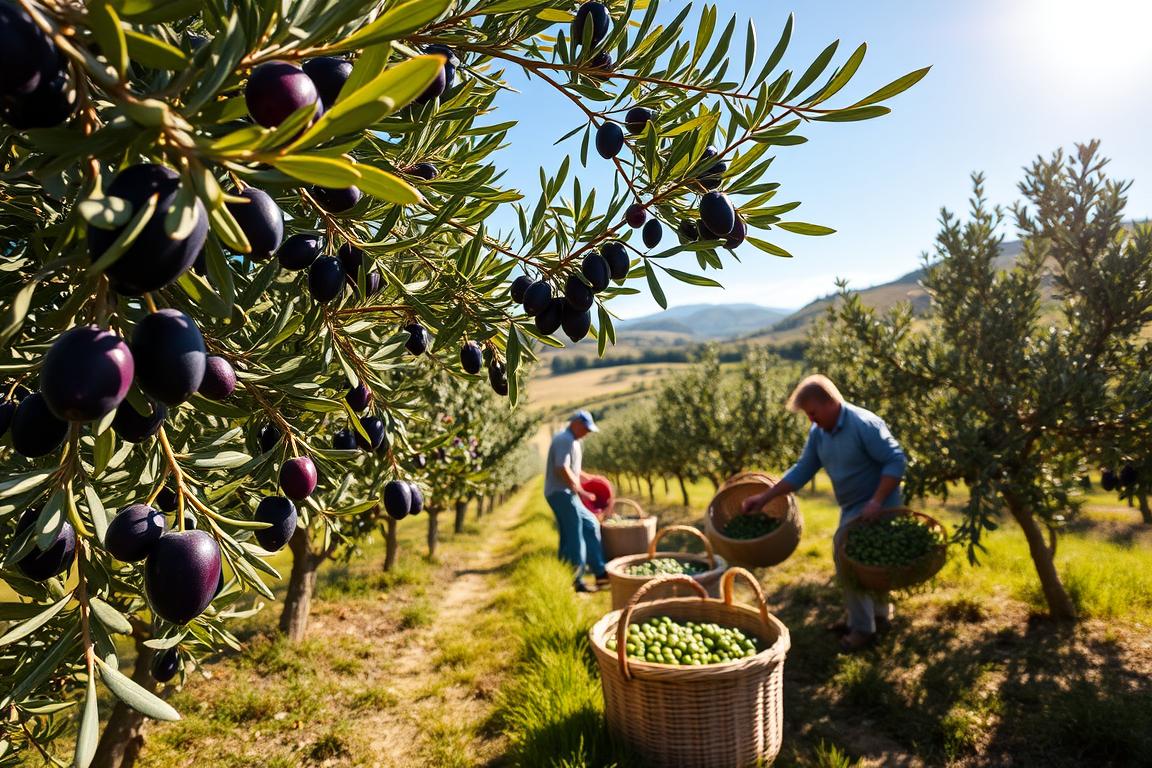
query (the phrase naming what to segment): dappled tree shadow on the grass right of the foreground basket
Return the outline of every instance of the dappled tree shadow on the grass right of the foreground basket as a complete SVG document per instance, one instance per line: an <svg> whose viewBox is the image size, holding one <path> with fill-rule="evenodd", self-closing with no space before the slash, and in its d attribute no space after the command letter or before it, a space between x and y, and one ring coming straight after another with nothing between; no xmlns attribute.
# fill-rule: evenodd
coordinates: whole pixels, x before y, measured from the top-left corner
<svg viewBox="0 0 1152 768"><path fill-rule="evenodd" d="M1152 766L1152 680L1083 626L993 621L956 598L842 656L825 629L834 585L780 586L770 602L791 636L785 733L801 754L826 739L886 766Z"/></svg>

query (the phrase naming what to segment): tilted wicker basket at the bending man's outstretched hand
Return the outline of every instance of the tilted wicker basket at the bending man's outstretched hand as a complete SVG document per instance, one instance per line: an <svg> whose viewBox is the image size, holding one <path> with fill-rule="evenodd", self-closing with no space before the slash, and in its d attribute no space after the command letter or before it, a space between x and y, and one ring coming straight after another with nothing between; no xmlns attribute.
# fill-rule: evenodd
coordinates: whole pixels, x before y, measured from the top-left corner
<svg viewBox="0 0 1152 768"><path fill-rule="evenodd" d="M743 514L741 504L745 499L763 493L775 484L776 480L767 474L745 472L729 479L712 497L704 517L704 532L712 547L728 562L745 568L765 568L785 562L796 552L804 530L804 518L801 517L793 494L778 496L763 508L768 516L780 518L775 531L756 539L729 539L721 533L734 517Z"/></svg>

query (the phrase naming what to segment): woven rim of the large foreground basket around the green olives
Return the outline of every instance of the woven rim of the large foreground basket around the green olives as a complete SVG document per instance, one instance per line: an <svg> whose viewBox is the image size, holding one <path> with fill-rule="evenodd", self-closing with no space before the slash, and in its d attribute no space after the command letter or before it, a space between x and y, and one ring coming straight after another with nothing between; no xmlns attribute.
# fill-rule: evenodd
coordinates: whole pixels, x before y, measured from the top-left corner
<svg viewBox="0 0 1152 768"><path fill-rule="evenodd" d="M658 613L661 608L673 606L673 607L691 607L699 606L704 601L710 603L723 606L725 610L730 610L734 613L744 614L745 616L753 617L759 622L760 613L756 608L745 606L743 603L732 603L726 604L722 599L717 598L665 598L661 600L649 600L638 603L634 608L634 616L636 614L643 614L646 618L649 614ZM606 660L615 663L617 661L617 653L608 648L606 644L606 638L615 634L616 626L620 623L620 618L623 616L624 609L616 609L607 613L600 618L592 628L589 630L589 641L592 645L593 651L597 654L604 655ZM771 667L783 661L787 657L788 651L791 648L791 636L788 632L788 628L785 626L783 622L776 618L775 615L768 614L768 621L772 626L776 630L775 640L768 645L763 651L759 651L755 656L746 656L744 659L736 659L735 661L726 661L720 664L702 664L702 666L688 666L688 664L661 664L653 661L639 661L636 659L628 660L628 668L631 670L632 677L637 679L644 679L645 672L659 672L660 679L668 682L669 678L683 675L685 678L700 677L702 674L707 675L723 675L734 672L745 672L748 670L758 667ZM767 633L767 628L761 625L760 633L757 634L757 639L761 642L766 640L764 637Z"/></svg>

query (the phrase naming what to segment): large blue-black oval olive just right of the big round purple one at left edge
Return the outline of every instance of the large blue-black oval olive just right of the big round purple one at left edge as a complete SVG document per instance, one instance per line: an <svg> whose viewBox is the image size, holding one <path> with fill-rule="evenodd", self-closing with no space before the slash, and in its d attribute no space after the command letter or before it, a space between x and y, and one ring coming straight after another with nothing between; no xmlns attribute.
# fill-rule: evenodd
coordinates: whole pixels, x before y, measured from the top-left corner
<svg viewBox="0 0 1152 768"><path fill-rule="evenodd" d="M159 310L136 324L132 357L137 386L166 405L191 397L207 366L200 329L177 310Z"/></svg>

